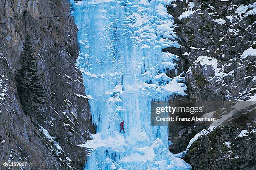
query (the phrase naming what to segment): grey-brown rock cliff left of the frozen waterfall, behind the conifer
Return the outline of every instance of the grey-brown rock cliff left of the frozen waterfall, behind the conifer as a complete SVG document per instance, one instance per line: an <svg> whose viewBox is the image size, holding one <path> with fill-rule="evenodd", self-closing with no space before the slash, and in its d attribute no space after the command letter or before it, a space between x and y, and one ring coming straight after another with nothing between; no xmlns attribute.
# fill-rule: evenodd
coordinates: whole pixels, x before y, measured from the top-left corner
<svg viewBox="0 0 256 170"><path fill-rule="evenodd" d="M0 2L0 169L4 162L28 162L23 169L82 169L87 151L77 145L94 131L78 55L77 28L67 0ZM25 115L15 69L25 33L32 37L46 99L40 112ZM14 167L13 169L18 169Z"/></svg>

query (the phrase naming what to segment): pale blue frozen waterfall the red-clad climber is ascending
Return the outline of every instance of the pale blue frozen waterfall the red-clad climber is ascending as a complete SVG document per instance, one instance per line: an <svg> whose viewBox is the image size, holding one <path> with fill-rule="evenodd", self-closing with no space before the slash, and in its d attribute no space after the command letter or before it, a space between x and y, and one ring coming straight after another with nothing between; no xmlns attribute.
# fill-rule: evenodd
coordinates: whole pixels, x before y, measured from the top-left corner
<svg viewBox="0 0 256 170"><path fill-rule="evenodd" d="M71 1L80 46L77 66L90 98L97 133L85 169L190 169L168 150L168 127L151 126L151 101L185 95L180 76L170 78L179 47L167 0ZM120 134L124 119L125 134Z"/></svg>

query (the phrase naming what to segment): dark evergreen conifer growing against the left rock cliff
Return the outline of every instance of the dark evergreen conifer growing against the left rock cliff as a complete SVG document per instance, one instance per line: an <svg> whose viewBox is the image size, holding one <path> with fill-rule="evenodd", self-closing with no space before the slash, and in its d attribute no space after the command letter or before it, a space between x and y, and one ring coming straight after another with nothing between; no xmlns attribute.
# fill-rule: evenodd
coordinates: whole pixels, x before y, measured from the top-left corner
<svg viewBox="0 0 256 170"><path fill-rule="evenodd" d="M35 104L41 104L45 92L37 69L37 59L31 37L27 34L20 56L21 69L16 71L17 89L25 113L33 111Z"/></svg>

